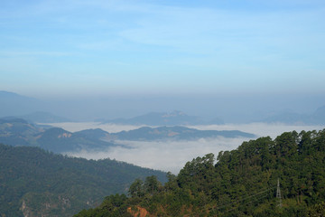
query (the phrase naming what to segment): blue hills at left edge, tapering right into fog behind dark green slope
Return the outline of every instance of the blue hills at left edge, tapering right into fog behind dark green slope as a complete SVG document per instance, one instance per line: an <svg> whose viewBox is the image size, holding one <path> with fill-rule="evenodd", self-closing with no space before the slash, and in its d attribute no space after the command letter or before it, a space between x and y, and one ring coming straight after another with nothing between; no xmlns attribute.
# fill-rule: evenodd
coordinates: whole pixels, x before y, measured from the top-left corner
<svg viewBox="0 0 325 217"><path fill-rule="evenodd" d="M59 127L43 129L19 118L0 119L0 143L11 146L39 146L55 153L117 146L99 138L70 133Z"/></svg>

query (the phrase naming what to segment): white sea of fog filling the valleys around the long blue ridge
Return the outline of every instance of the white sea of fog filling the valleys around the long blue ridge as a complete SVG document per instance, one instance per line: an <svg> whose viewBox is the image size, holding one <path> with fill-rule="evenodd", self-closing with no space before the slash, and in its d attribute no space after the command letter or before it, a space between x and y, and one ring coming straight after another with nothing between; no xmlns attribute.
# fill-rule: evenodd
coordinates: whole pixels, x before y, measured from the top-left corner
<svg viewBox="0 0 325 217"><path fill-rule="evenodd" d="M53 127L62 127L70 132L76 132L88 128L101 128L109 133L115 133L122 130L131 130L141 126L100 124L96 122L87 123L54 123ZM240 125L208 125L208 126L187 126L198 129L215 130L241 130L247 133L255 134L256 137L270 136L275 138L283 132L296 130L320 130L324 126L298 126L283 124L265 124L252 123ZM87 159L111 158L118 161L125 161L134 165L143 167L171 171L178 174L186 162L197 156L205 156L213 153L218 156L219 151L236 149L244 141L250 138L225 138L217 137L211 139L199 139L195 141L169 141L169 142L139 142L139 141L116 141L124 146L109 147L99 152L82 150L77 153L66 153L68 156L79 156Z"/></svg>

